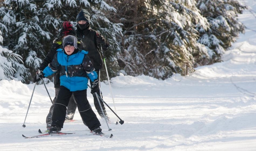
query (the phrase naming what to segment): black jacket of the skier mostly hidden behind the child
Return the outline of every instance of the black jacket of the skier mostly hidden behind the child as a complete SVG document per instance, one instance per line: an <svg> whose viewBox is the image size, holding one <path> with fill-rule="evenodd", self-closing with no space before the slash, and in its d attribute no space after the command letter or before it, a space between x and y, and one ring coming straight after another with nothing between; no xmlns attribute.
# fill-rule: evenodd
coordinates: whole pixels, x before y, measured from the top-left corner
<svg viewBox="0 0 256 151"><path fill-rule="evenodd" d="M80 50L85 50L85 45L81 39L78 39L77 46ZM54 40L54 43L52 44L52 47L48 52L48 54L46 55L46 57L43 59L43 62L41 63L39 70L43 71L48 66L48 64L52 62L54 55L57 53L56 50L59 48L63 49L62 41ZM54 88L59 88L59 87L60 87L60 71L58 70L56 73L54 73Z"/></svg>

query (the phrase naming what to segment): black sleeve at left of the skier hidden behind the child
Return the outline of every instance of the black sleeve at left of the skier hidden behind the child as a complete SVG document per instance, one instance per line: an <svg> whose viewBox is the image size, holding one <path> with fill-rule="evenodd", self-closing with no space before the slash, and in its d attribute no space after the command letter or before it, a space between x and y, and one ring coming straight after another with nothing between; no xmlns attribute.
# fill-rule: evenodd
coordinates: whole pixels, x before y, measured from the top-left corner
<svg viewBox="0 0 256 151"><path fill-rule="evenodd" d="M59 48L59 46L60 45L57 43L52 44L52 48L50 49L46 57L43 59L43 62L41 63L39 70L43 71L44 68L46 68L48 64L52 62L54 55L57 53L56 50Z"/></svg>

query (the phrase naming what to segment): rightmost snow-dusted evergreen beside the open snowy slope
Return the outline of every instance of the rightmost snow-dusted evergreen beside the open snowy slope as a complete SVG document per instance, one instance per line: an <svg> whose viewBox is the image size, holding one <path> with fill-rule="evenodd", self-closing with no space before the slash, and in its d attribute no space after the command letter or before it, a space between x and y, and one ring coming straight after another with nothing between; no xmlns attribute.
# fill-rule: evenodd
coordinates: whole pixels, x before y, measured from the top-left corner
<svg viewBox="0 0 256 151"><path fill-rule="evenodd" d="M196 0L201 15L207 18L210 29L198 30L198 42L207 46L210 56L207 60L198 60L199 65L218 62L221 55L236 40L239 33L244 33L245 26L238 21L246 6L236 0Z"/></svg>

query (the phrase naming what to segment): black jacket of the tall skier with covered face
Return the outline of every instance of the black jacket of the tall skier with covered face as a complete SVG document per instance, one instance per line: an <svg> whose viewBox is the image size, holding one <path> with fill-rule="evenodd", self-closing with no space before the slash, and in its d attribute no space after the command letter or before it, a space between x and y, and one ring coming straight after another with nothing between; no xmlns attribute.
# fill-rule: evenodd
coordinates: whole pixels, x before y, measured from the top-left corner
<svg viewBox="0 0 256 151"><path fill-rule="evenodd" d="M79 26L77 26L76 30L77 38L82 39L85 44L85 51L88 51L88 56L95 68L95 70L99 70L102 68L102 57L99 45L97 44L97 36L102 36L96 30L91 29L90 25L86 27L84 30L81 30ZM103 36L102 36L103 37ZM109 48L109 42L103 37L104 44L101 45L103 51L107 51Z"/></svg>

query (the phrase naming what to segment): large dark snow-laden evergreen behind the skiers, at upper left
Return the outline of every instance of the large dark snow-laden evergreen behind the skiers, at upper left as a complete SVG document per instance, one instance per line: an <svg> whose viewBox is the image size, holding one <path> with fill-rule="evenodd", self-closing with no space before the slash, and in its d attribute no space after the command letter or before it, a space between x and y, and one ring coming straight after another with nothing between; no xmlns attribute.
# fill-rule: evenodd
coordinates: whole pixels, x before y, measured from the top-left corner
<svg viewBox="0 0 256 151"><path fill-rule="evenodd" d="M26 76L26 82L32 81L34 73L42 59L50 50L51 43L57 38L63 21L74 21L81 9L91 13L91 26L101 32L111 43L111 51L106 53L110 63L111 76L118 72L116 51L120 50L116 35L121 33L121 24L108 20L105 12L115 11L103 0L5 0L0 5L0 29L4 30L4 46L22 56L25 66L32 76ZM106 74L105 74L106 75Z"/></svg>

